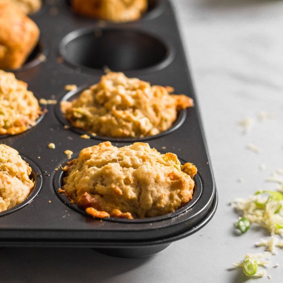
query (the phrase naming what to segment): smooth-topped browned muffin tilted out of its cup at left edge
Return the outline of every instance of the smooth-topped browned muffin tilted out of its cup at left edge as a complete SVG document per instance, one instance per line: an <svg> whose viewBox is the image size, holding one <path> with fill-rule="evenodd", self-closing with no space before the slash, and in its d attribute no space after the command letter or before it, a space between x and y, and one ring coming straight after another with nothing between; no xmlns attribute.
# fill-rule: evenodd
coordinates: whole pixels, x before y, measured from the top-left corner
<svg viewBox="0 0 283 283"><path fill-rule="evenodd" d="M39 39L39 28L21 10L0 2L0 68L20 68Z"/></svg>

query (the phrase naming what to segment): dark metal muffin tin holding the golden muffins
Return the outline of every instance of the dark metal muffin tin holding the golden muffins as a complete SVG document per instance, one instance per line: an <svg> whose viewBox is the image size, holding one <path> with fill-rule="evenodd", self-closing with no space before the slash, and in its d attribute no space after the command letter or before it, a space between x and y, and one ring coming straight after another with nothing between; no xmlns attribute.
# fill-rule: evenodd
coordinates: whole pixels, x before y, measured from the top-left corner
<svg viewBox="0 0 283 283"><path fill-rule="evenodd" d="M196 105L181 111L171 129L152 137L83 139L83 132L64 129L68 122L59 104L48 105L40 123L25 133L2 137L1 143L28 158L36 187L23 204L0 213L0 246L91 247L114 256L143 257L202 228L215 213L217 192L198 101L169 1L151 0L149 11L130 23L75 15L64 0L45 3L43 10L31 17L41 30L40 42L29 62L14 73L38 98L60 103L75 97L78 91L67 92L65 85L76 84L83 90L97 83L103 68L108 67L151 84L172 86L174 93L192 97ZM199 173L193 200L174 213L149 219L99 220L85 215L58 192L63 172L55 169L67 162L66 149L76 157L82 148L103 140L118 147L143 140L194 163ZM49 149L49 143L56 148Z"/></svg>

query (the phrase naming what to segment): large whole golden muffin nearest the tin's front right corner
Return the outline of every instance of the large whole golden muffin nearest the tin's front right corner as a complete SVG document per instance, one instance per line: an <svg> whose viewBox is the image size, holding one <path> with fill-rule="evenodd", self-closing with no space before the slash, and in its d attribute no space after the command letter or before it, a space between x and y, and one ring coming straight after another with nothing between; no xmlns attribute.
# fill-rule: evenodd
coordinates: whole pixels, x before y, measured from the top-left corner
<svg viewBox="0 0 283 283"><path fill-rule="evenodd" d="M148 144L117 148L110 141L81 150L67 163L63 192L98 218L147 218L170 213L192 198L197 168Z"/></svg>

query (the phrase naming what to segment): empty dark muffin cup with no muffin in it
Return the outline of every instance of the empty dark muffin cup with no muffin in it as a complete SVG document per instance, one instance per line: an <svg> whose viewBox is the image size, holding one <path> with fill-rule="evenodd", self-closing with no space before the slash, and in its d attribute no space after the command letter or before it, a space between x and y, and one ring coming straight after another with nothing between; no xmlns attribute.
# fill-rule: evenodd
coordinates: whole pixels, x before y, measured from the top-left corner
<svg viewBox="0 0 283 283"><path fill-rule="evenodd" d="M173 48L164 40L132 28L75 30L62 39L59 52L70 65L100 73L105 68L119 72L155 72L174 58Z"/></svg>

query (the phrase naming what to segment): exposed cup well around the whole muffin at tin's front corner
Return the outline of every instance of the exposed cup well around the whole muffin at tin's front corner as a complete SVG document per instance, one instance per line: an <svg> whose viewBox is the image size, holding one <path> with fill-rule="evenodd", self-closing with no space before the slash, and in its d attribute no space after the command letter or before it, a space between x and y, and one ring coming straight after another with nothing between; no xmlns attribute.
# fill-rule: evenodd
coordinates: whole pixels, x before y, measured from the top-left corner
<svg viewBox="0 0 283 283"><path fill-rule="evenodd" d="M160 150L158 150L160 151ZM162 151L160 151L162 152ZM74 158L78 158L79 153L74 154L72 156L72 160ZM181 161L182 164L186 163L184 160L182 160L181 158L179 158L179 160ZM67 160L68 161L68 160ZM76 211L78 211L79 213L87 216L87 217L91 217L89 214L87 214L85 212L85 210L81 207L79 207L78 205L76 205L74 202L70 201L70 199L68 197L65 196L64 193L59 192L59 189L61 189L64 185L63 183L63 178L65 177L65 172L61 169L61 167L64 167L66 165L66 160L63 162L63 164L60 166L60 169L55 173L54 175L54 180L53 180L53 185L54 185L54 189L55 192L57 193L58 197L62 200L62 202L64 204L66 204L67 206L75 209ZM201 181L201 177L199 174L196 174L193 178L194 180L194 189L193 189L193 194L192 194L192 199L185 204L184 206L180 207L179 209L176 209L175 211L162 215L162 216L157 216L157 217L149 217L149 218L142 218L142 219L125 219L125 218L115 218L115 217L109 217L109 218L103 218L103 220L105 221L114 221L114 222L122 222L122 223L148 223L148 222L156 222L156 221L163 221L165 219L170 219L170 218L174 218L179 216L180 214L184 213L185 211L187 211L188 209L192 208L200 199L201 194L202 194L202 181Z"/></svg>

